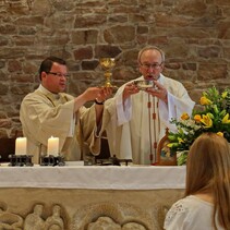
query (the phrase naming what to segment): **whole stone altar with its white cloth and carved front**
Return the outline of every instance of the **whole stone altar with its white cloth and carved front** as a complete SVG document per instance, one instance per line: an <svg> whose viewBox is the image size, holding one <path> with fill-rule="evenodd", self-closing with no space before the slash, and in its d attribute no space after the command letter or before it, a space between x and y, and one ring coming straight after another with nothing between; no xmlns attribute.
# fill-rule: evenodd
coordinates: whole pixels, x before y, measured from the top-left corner
<svg viewBox="0 0 230 230"><path fill-rule="evenodd" d="M0 228L158 230L184 187L184 166L2 165Z"/></svg>

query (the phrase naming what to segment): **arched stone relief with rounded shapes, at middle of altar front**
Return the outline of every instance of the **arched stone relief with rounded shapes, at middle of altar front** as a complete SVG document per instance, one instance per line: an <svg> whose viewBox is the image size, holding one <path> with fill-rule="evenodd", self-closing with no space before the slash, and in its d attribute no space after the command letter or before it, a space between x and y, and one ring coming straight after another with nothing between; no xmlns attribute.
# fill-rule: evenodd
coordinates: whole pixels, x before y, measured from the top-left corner
<svg viewBox="0 0 230 230"><path fill-rule="evenodd" d="M130 204L100 203L87 205L75 211L71 229L96 230L150 230L152 217L145 210Z"/></svg>

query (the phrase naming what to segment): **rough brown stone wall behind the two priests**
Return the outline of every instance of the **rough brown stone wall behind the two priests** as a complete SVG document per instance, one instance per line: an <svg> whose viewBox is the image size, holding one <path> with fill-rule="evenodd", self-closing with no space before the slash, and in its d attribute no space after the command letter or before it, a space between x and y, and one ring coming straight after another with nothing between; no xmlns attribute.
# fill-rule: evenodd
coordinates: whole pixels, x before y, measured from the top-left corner
<svg viewBox="0 0 230 230"><path fill-rule="evenodd" d="M229 0L0 0L0 137L21 133L22 98L38 85L44 58L64 58L68 92L105 81L101 57L114 57L116 85L137 77L137 51L166 51L164 73L191 97L230 85Z"/></svg>

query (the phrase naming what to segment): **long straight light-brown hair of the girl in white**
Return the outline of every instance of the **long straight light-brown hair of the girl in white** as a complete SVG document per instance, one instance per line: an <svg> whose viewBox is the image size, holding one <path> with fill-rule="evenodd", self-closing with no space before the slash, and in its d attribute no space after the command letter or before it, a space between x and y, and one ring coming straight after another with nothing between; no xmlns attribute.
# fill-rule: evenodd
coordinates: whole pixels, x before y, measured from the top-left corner
<svg viewBox="0 0 230 230"><path fill-rule="evenodd" d="M186 165L185 196L210 193L215 218L230 227L230 144L215 133L203 133L191 146Z"/></svg>

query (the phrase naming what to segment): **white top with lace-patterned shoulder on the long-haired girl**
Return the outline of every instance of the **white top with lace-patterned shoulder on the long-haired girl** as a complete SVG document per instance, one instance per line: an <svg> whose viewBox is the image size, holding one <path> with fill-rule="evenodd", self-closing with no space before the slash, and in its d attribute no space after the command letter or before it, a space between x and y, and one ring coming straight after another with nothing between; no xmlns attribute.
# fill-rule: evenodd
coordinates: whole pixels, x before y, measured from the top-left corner
<svg viewBox="0 0 230 230"><path fill-rule="evenodd" d="M174 203L166 215L166 230L214 230L214 205L190 195ZM223 230L217 225L218 230Z"/></svg>

